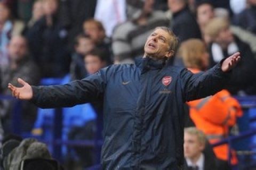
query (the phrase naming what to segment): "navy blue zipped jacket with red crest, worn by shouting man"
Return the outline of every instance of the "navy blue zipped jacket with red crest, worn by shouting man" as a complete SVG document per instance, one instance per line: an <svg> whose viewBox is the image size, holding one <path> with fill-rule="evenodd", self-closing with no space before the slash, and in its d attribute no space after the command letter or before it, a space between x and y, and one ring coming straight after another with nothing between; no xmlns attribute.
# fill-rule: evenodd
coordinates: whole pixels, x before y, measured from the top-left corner
<svg viewBox="0 0 256 170"><path fill-rule="evenodd" d="M103 169L180 169L183 165L183 103L214 94L229 73L221 64L193 74L143 58L111 65L62 86L33 87L39 107L103 100Z"/></svg>

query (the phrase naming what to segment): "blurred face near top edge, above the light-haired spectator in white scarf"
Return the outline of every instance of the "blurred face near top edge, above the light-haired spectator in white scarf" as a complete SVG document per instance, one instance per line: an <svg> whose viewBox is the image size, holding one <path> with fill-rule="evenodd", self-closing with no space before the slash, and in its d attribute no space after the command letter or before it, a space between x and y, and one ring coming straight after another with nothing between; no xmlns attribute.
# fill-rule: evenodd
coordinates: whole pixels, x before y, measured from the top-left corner
<svg viewBox="0 0 256 170"><path fill-rule="evenodd" d="M199 25L205 25L213 17L213 8L210 4L202 4L197 7L197 22Z"/></svg>

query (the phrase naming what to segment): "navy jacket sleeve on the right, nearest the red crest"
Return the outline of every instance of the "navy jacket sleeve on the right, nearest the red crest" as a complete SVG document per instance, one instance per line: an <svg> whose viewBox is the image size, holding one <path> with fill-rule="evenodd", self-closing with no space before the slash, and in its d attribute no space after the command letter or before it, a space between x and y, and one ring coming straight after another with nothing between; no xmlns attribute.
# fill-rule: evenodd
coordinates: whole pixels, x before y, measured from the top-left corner
<svg viewBox="0 0 256 170"><path fill-rule="evenodd" d="M187 69L181 71L183 101L191 101L215 94L225 88L231 72L223 72L223 60L206 72L193 74Z"/></svg>

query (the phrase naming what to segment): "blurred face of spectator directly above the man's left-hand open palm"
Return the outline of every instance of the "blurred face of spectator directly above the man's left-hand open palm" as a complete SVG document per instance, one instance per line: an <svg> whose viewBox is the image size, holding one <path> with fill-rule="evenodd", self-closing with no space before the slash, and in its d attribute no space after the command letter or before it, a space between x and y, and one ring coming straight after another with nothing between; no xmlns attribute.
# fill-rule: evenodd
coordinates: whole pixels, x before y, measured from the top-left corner
<svg viewBox="0 0 256 170"><path fill-rule="evenodd" d="M21 36L13 37L8 46L8 53L11 60L19 61L27 55L27 41Z"/></svg>

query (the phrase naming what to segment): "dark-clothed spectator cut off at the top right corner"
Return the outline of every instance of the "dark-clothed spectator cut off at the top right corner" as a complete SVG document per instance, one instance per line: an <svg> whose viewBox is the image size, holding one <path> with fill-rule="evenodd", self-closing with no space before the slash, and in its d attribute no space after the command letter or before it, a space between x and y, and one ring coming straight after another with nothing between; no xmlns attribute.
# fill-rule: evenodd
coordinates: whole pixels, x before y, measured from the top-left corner
<svg viewBox="0 0 256 170"><path fill-rule="evenodd" d="M249 7L233 17L233 23L256 34L256 1L248 0Z"/></svg>

